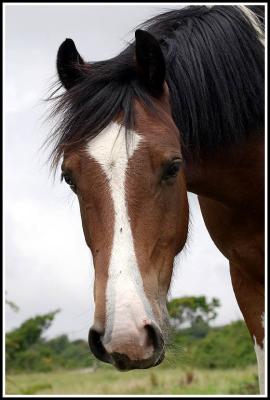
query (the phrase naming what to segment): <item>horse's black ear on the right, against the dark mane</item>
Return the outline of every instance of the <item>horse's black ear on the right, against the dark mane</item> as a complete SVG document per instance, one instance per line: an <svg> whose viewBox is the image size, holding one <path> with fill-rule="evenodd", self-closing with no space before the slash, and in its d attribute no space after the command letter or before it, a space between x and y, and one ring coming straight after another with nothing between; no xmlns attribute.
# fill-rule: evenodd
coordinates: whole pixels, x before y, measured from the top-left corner
<svg viewBox="0 0 270 400"><path fill-rule="evenodd" d="M163 91L166 65L158 41L148 32L136 30L136 63L138 74L154 95Z"/></svg>

